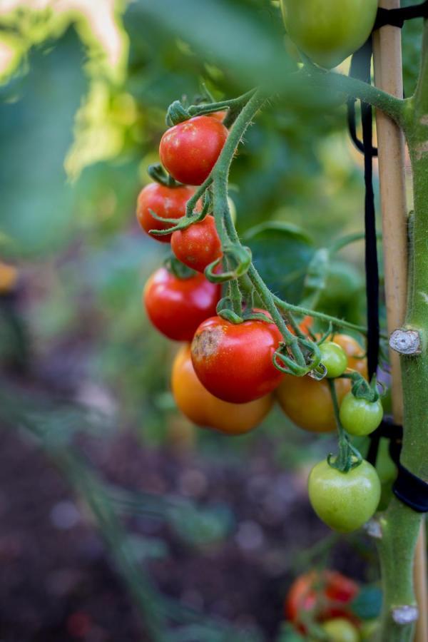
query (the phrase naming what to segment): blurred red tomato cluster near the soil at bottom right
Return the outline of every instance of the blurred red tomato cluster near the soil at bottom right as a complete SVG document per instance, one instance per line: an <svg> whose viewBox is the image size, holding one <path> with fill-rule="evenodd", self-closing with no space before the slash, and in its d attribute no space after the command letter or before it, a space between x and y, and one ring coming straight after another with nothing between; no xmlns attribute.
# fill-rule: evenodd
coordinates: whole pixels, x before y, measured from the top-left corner
<svg viewBox="0 0 428 642"><path fill-rule="evenodd" d="M337 571L309 571L290 586L284 603L285 617L305 639L321 639L320 636L335 642L370 639L377 621L362 621L352 611L352 603L359 594L360 586Z"/></svg>

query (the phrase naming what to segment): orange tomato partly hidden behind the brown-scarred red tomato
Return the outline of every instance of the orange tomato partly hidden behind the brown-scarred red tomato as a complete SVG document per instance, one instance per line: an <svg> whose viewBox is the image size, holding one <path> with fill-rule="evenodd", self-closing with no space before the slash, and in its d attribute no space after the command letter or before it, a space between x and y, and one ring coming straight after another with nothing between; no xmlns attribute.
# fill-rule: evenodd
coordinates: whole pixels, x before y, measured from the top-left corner
<svg viewBox="0 0 428 642"><path fill-rule="evenodd" d="M171 384L175 403L191 422L224 434L249 432L263 421L273 403L271 394L248 404L230 404L214 397L196 377L188 344L175 357Z"/></svg>

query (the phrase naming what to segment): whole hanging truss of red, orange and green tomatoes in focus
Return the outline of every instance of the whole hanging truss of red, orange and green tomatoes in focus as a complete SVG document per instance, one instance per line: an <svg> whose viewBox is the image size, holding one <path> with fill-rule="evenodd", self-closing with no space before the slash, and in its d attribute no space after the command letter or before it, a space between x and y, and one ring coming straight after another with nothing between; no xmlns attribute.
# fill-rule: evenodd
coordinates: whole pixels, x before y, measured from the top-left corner
<svg viewBox="0 0 428 642"><path fill-rule="evenodd" d="M173 363L175 402L199 426L243 434L264 419L277 399L297 426L330 432L336 428L333 382L342 426L351 435L369 434L382 420L382 404L379 399L355 397L351 380L341 378L345 371L367 378L365 355L355 339L339 334L334 340L320 341L321 362L327 371L322 381L284 374L273 361L282 335L268 312L255 308L253 312L263 313L265 320L250 318L240 323L216 314L221 287L204 274L222 256L213 216L208 213L188 228L156 236L185 215L195 185L210 175L228 137L223 116L197 116L169 128L161 140L160 156L175 180L166 185L151 183L138 197L141 227L153 238L169 242L175 262L184 268L161 267L144 290L153 325L171 340L184 342ZM309 332L311 323L306 318L301 330ZM380 483L368 462L344 473L323 461L312 469L309 494L326 524L349 532L374 514Z"/></svg>

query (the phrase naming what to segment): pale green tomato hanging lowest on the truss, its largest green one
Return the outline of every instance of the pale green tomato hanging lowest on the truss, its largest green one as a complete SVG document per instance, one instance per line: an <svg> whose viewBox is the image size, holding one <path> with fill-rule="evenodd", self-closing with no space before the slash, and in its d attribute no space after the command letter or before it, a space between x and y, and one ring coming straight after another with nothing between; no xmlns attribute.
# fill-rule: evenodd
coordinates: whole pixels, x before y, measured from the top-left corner
<svg viewBox="0 0 428 642"><path fill-rule="evenodd" d="M309 475L308 490L317 516L340 533L350 533L365 524L380 499L379 477L365 460L347 473L332 468L327 460L316 464Z"/></svg>

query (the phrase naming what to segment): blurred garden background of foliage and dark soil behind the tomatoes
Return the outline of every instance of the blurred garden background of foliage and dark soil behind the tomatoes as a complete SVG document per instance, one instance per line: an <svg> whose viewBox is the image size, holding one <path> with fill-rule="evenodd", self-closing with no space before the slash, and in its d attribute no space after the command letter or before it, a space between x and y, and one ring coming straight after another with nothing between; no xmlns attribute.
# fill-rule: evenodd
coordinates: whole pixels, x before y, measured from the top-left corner
<svg viewBox="0 0 428 642"><path fill-rule="evenodd" d="M403 29L407 96L420 28ZM298 574L377 581L372 544L332 535L307 500L334 440L278 409L243 437L194 427L170 394L176 346L141 305L167 250L136 198L168 105L201 83L219 99L276 88L230 179L240 234L296 226L279 263L254 248L276 291L298 302L315 250L362 230L343 97L296 86L295 68L273 1L0 1L2 642L291 641ZM364 297L357 243L322 309L364 322Z"/></svg>

